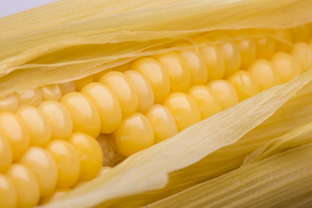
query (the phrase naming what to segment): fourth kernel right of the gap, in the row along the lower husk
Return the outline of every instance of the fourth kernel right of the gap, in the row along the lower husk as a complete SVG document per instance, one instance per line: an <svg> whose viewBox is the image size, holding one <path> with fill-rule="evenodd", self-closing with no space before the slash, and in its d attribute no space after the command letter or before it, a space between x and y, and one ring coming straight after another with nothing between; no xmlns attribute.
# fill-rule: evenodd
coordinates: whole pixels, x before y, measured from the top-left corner
<svg viewBox="0 0 312 208"><path fill-rule="evenodd" d="M217 95L205 85L196 85L189 88L187 94L195 101L201 115L201 120L222 110Z"/></svg>

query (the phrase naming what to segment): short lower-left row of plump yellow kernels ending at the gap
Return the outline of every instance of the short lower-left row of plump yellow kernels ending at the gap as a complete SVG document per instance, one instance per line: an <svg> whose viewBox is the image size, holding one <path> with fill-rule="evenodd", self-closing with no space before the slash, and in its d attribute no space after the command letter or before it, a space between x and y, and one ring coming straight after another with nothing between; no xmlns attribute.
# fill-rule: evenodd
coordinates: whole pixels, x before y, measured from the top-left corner
<svg viewBox="0 0 312 208"><path fill-rule="evenodd" d="M51 195L55 188L68 188L78 181L95 178L102 163L102 150L97 141L82 133L73 133L68 141L52 140L45 149L30 147L9 166L5 175L0 174L0 183L6 184L0 186L0 193L14 192L15 195L5 199L5 203L2 197L6 194L0 195L0 207L36 206L40 198Z"/></svg>

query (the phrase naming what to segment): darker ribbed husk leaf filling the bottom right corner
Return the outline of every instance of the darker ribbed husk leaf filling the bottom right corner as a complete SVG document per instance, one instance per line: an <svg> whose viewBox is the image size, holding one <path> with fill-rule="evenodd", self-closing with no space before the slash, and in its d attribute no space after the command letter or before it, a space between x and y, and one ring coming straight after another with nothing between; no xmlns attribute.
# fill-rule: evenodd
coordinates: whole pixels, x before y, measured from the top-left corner
<svg viewBox="0 0 312 208"><path fill-rule="evenodd" d="M248 164L145 208L310 208L311 158L312 143Z"/></svg>

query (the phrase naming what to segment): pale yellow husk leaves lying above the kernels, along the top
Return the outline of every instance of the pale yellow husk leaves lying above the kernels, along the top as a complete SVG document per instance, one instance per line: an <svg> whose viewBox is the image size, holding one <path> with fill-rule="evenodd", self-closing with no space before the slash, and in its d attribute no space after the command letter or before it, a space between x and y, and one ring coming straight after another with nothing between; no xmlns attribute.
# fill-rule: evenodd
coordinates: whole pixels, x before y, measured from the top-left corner
<svg viewBox="0 0 312 208"><path fill-rule="evenodd" d="M0 97L81 78L207 30L304 24L311 9L311 0L61 0L0 18Z"/></svg>

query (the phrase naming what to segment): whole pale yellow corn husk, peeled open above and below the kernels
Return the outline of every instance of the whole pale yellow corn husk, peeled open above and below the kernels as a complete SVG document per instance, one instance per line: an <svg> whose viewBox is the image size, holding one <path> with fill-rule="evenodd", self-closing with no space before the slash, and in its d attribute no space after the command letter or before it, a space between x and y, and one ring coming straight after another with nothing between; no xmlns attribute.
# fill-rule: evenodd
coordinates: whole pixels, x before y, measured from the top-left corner
<svg viewBox="0 0 312 208"><path fill-rule="evenodd" d="M312 21L311 9L311 0L58 1L0 19L0 97L44 84L75 80L140 56L171 50L158 48L178 40L191 42L192 35L204 31L301 25ZM169 196L178 196L183 202L192 195L183 193L200 190L198 184L205 185L208 181L209 190L217 189L214 183L229 182L230 186L233 172L226 173L234 169L241 187L234 187L233 192L225 187L224 192L235 199L216 196L221 205L247 203L241 189L253 189L254 197L259 194L260 199L274 201L275 195L270 195L274 189L269 187L270 192L264 190L263 194L257 192L259 184L249 188L244 179L248 170L252 170L250 167L259 167L264 178L256 174L251 179L266 183L265 176L273 174L266 168L270 164L293 161L283 167L295 171L294 160L303 164L302 161L311 157L300 155L301 147L280 153L311 143L308 124L312 117L311 81L312 70L308 70L288 83L263 91L129 157L106 175L43 207L135 208L157 201L170 207L166 204L171 202ZM298 137L301 139L294 142ZM277 148L272 149L272 145ZM296 157L291 153L297 154ZM239 168L244 160L245 165ZM286 179L279 178L285 189L304 186L300 180L309 181L311 169L296 168L300 176L292 178L291 186ZM277 180L279 174L277 171L274 175ZM285 205L289 199L282 194L276 194L276 206ZM292 192L286 194L290 196ZM203 199L209 197L214 196L207 192ZM294 198L307 200L311 205L311 192ZM158 204L151 204L154 205Z"/></svg>

